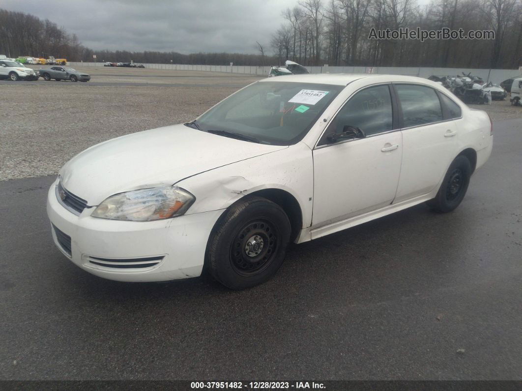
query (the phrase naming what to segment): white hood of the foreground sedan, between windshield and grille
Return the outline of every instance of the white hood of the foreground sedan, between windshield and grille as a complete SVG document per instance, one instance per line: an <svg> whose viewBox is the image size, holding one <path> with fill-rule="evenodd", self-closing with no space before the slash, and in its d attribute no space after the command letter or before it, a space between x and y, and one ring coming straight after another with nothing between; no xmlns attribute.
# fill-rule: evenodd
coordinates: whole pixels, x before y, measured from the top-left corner
<svg viewBox="0 0 522 391"><path fill-rule="evenodd" d="M60 176L69 192L95 206L117 193L170 186L188 176L284 148L288 147L172 125L90 147L69 160Z"/></svg>

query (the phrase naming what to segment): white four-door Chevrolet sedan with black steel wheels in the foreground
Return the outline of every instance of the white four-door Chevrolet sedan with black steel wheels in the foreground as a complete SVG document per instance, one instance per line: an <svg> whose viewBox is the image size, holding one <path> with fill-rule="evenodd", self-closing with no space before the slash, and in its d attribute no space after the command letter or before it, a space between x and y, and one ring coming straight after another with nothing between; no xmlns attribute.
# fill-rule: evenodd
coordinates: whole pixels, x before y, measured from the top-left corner
<svg viewBox="0 0 522 391"><path fill-rule="evenodd" d="M197 120L93 146L51 186L57 247L120 281L273 276L302 243L423 202L455 209L492 123L409 76L260 80ZM325 265L325 267L328 267Z"/></svg>

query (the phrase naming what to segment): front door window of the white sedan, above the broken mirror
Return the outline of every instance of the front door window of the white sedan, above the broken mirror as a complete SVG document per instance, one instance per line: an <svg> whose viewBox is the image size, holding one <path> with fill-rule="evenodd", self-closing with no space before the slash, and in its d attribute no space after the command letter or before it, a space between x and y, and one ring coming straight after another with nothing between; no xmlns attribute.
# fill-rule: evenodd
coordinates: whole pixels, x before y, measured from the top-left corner
<svg viewBox="0 0 522 391"><path fill-rule="evenodd" d="M355 93L330 123L322 141L326 141L326 137L331 133L341 133L348 125L357 126L366 136L393 130L389 87L369 87Z"/></svg>

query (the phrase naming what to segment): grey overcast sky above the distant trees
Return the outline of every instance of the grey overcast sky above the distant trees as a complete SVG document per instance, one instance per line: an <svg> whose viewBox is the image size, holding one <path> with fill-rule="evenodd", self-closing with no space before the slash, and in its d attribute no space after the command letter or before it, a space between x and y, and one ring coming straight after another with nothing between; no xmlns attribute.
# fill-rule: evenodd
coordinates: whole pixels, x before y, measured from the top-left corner
<svg viewBox="0 0 522 391"><path fill-rule="evenodd" d="M296 0L1 0L49 19L91 49L256 53Z"/></svg>

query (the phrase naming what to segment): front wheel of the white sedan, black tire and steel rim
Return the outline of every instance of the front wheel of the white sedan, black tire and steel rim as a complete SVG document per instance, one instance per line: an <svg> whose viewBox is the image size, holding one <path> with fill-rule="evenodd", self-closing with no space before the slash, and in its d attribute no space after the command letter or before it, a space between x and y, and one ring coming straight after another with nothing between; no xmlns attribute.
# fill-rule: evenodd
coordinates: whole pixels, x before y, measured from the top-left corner
<svg viewBox="0 0 522 391"><path fill-rule="evenodd" d="M290 221L281 207L262 197L232 205L212 230L207 248L210 274L241 290L269 280L283 263Z"/></svg>

